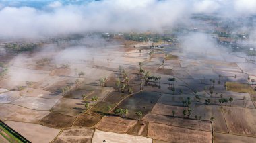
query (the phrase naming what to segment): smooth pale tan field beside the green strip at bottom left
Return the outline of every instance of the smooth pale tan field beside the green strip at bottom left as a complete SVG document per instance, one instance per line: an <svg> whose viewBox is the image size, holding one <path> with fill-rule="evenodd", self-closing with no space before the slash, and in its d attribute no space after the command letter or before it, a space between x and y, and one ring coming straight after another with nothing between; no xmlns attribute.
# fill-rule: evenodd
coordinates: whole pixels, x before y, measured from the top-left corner
<svg viewBox="0 0 256 143"><path fill-rule="evenodd" d="M35 143L51 142L61 131L59 129L53 129L46 126L31 123L13 121L7 121L5 123L11 128L13 128L13 130L17 131L22 136L30 140L30 142Z"/></svg>

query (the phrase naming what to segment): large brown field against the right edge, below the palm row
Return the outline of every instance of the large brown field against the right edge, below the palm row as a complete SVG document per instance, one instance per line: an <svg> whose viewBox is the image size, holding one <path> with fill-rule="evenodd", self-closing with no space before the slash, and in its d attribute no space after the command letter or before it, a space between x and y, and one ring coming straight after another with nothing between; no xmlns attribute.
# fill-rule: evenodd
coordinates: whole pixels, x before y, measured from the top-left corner
<svg viewBox="0 0 256 143"><path fill-rule="evenodd" d="M255 109L223 107L223 110L230 133L256 136Z"/></svg>

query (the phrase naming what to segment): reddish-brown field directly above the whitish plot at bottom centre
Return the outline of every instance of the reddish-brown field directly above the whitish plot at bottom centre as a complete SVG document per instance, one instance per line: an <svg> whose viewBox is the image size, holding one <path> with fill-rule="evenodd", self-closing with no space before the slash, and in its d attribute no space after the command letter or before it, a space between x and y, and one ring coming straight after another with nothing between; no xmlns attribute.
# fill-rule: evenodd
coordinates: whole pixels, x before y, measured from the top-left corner
<svg viewBox="0 0 256 143"><path fill-rule="evenodd" d="M125 133L136 123L136 120L127 120L125 118L115 116L104 116L95 127L108 132Z"/></svg>

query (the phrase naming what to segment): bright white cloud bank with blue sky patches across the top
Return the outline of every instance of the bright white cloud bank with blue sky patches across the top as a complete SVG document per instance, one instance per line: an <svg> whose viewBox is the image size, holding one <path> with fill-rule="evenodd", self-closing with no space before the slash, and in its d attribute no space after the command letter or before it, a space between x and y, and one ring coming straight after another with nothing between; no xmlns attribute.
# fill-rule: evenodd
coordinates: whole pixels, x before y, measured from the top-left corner
<svg viewBox="0 0 256 143"><path fill-rule="evenodd" d="M38 38L92 31L161 30L192 14L256 14L256 0L0 1L0 36Z"/></svg>

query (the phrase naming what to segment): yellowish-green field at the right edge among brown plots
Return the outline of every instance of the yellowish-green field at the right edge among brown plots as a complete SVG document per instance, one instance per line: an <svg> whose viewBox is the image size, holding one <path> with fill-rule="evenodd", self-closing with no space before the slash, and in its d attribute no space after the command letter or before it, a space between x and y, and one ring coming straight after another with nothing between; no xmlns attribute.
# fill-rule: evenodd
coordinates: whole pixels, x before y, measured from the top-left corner
<svg viewBox="0 0 256 143"><path fill-rule="evenodd" d="M238 93L250 93L254 94L253 88L248 84L235 83L235 82L226 82L226 90L234 91Z"/></svg>

